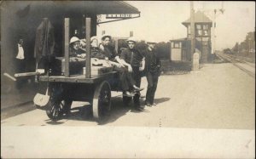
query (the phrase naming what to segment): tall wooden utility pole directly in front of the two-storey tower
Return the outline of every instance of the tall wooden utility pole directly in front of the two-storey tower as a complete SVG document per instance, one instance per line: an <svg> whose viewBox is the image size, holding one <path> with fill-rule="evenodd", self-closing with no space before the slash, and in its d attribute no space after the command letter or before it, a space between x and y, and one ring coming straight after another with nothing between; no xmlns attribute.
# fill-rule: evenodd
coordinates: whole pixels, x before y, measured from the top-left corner
<svg viewBox="0 0 256 159"><path fill-rule="evenodd" d="M190 1L190 38L191 38L191 62L193 65L193 55L195 53L195 10L194 10L194 2Z"/></svg>

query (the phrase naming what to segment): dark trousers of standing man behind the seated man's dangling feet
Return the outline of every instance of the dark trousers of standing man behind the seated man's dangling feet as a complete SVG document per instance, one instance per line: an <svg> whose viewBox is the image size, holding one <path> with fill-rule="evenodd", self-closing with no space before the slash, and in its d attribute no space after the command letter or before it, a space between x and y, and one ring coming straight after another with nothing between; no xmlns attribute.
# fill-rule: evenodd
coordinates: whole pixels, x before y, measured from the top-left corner
<svg viewBox="0 0 256 159"><path fill-rule="evenodd" d="M132 77L134 79L135 85L140 88L141 87L141 81L142 81L142 72L139 71L138 66L132 66ZM140 96L141 94L137 92L137 94L133 97L133 103L136 107L140 107Z"/></svg>

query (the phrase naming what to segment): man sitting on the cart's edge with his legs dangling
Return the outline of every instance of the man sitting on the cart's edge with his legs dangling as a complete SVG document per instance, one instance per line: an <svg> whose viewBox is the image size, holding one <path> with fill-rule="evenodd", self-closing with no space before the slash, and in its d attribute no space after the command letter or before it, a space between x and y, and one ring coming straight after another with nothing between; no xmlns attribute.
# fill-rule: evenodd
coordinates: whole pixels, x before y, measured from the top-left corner
<svg viewBox="0 0 256 159"><path fill-rule="evenodd" d="M113 65L113 71L119 71L120 87L124 91L124 94L129 97L133 97L133 90L139 90L136 87L131 73L127 71L125 65L120 60L119 55L115 49L110 46L111 36L105 34L102 36L102 53L105 55L105 60L109 61Z"/></svg>

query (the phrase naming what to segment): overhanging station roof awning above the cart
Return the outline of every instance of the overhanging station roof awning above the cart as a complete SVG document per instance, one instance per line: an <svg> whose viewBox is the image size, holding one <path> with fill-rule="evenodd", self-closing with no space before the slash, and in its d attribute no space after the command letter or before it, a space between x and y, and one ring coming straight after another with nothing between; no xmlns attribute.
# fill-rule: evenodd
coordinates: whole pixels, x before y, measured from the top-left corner
<svg viewBox="0 0 256 159"><path fill-rule="evenodd" d="M137 8L122 1L4 1L1 7L24 17L26 14L65 17L76 14L140 14Z"/></svg>

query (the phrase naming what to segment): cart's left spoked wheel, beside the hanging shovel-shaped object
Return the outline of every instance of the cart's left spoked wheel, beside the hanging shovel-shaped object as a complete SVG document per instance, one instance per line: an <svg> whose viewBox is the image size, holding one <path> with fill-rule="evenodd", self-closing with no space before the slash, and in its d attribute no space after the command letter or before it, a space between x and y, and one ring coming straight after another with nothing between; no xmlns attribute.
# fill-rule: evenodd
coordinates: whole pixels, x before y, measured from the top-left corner
<svg viewBox="0 0 256 159"><path fill-rule="evenodd" d="M69 114L72 105L71 99L63 99L61 88L51 88L49 93L50 99L47 105L46 114L53 121L61 119L61 117Z"/></svg>

